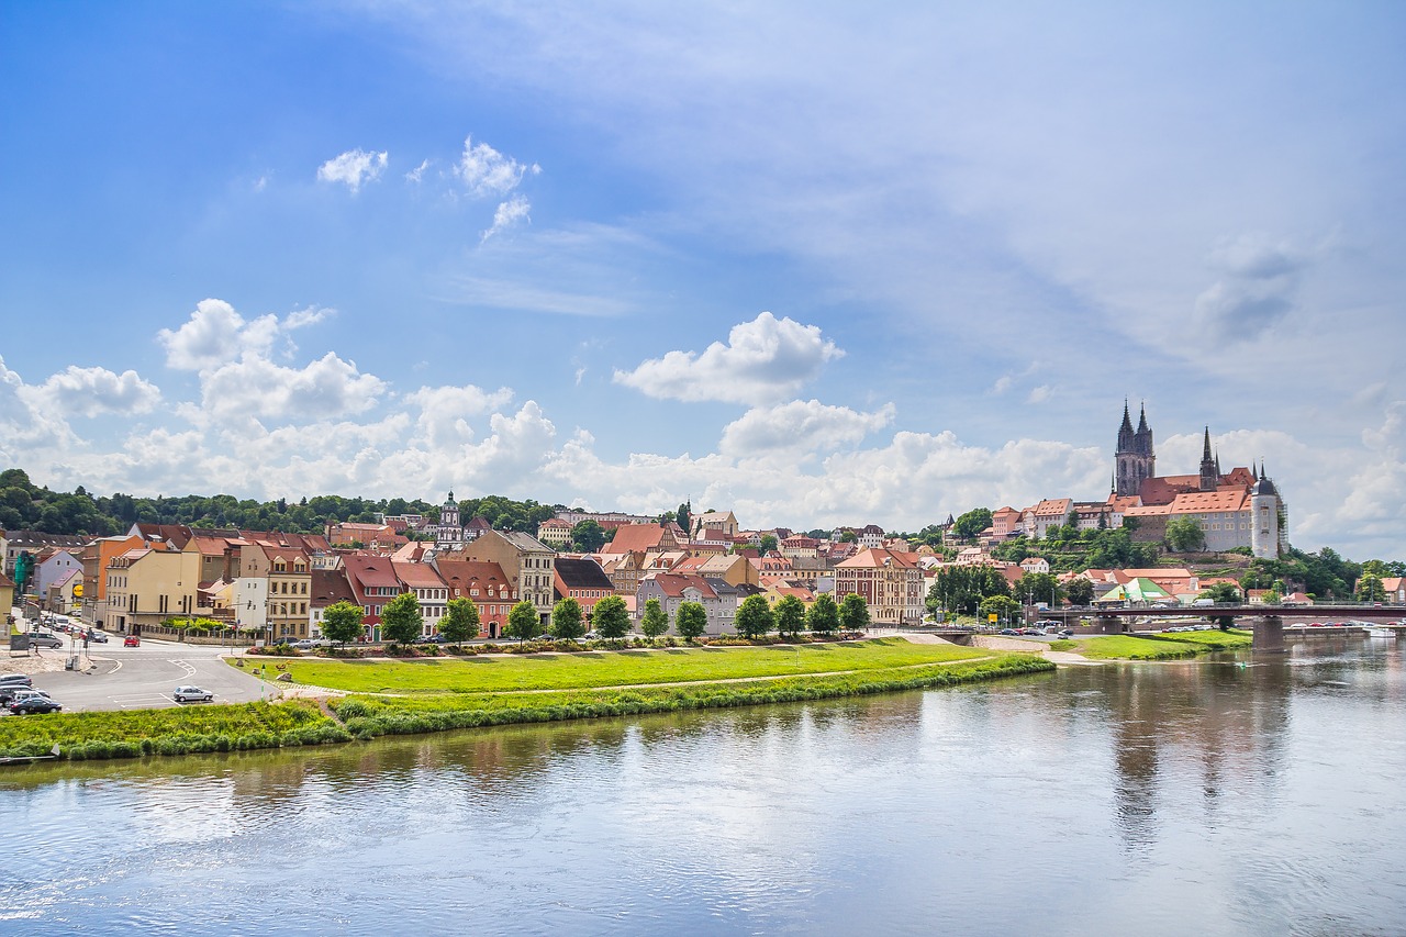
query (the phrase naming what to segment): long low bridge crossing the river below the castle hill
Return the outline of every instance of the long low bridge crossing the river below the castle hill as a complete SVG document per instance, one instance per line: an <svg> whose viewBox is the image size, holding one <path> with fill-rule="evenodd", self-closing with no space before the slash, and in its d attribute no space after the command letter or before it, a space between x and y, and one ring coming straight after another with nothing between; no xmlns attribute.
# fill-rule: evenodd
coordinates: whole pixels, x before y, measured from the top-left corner
<svg viewBox="0 0 1406 937"><path fill-rule="evenodd" d="M1090 620L1094 630L1099 635L1123 635L1130 632L1129 625L1139 618L1159 618L1159 619L1175 619L1175 618L1205 618L1205 619L1220 619L1230 618L1237 623L1241 619L1251 619L1249 622L1250 630L1254 635L1253 647L1257 651L1284 651L1284 629L1302 627L1308 622L1339 622L1344 619L1368 622L1379 626L1389 626L1396 632L1398 637L1406 633L1406 625L1399 625L1399 622L1406 622L1406 605L1241 605L1241 604L1216 604L1216 605L1174 605L1170 608L1163 608L1159 605L1118 605L1118 606L1085 606L1085 608L1059 608L1042 611L1040 616L1047 620L1056 620L1064 623L1066 627L1074 627L1083 625L1084 620ZM1341 635L1344 630L1341 627L1334 627L1331 632ZM1357 629L1361 630L1361 629Z"/></svg>

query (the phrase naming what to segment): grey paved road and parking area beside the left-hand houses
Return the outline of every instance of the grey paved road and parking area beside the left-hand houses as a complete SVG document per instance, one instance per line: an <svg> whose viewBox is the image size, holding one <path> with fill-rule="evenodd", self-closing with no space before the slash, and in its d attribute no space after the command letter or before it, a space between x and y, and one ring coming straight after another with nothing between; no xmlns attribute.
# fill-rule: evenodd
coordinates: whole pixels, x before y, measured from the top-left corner
<svg viewBox="0 0 1406 937"><path fill-rule="evenodd" d="M67 647L41 651L58 661L63 661L69 653ZM65 712L202 705L177 703L172 699L176 687L188 684L215 694L215 702L250 702L277 696L271 682L221 660L221 656L229 653L228 647L150 639L142 639L141 647L124 647L121 637L112 637L107 644L90 644L87 651L80 650L77 671L34 674L34 685L63 703Z"/></svg>

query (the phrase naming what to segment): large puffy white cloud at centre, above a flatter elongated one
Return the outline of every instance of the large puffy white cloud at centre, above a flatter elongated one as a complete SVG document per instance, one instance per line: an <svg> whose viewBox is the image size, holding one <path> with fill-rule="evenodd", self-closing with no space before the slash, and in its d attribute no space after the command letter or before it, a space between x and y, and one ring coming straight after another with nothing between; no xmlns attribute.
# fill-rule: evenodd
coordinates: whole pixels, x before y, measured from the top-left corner
<svg viewBox="0 0 1406 937"><path fill-rule="evenodd" d="M769 404L799 391L842 355L818 326L762 312L734 325L727 345L713 342L702 355L669 352L633 371L616 370L614 381L661 400Z"/></svg>

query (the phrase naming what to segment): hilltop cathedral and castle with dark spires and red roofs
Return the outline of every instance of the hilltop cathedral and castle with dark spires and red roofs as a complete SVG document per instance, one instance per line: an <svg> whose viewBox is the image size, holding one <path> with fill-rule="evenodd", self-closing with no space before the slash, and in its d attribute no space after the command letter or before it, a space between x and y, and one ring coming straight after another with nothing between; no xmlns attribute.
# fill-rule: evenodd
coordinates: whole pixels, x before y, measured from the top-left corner
<svg viewBox="0 0 1406 937"><path fill-rule="evenodd" d="M1281 554L1286 544L1288 508L1263 461L1258 471L1251 464L1222 473L1220 456L1211 449L1208 426L1197 474L1159 476L1156 467L1147 408L1139 409L1137 429L1133 429L1132 414L1123 402L1108 504L1122 519L1137 521L1137 539L1161 539L1168 521L1187 518L1201 525L1206 550L1250 547L1263 559Z"/></svg>

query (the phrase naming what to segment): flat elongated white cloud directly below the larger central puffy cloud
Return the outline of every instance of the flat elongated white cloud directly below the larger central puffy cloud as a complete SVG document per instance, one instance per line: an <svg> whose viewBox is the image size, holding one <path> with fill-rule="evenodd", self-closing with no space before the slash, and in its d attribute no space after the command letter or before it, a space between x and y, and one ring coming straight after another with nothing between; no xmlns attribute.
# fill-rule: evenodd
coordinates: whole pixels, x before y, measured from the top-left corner
<svg viewBox="0 0 1406 937"><path fill-rule="evenodd" d="M848 407L831 407L818 400L793 400L776 407L758 407L723 428L720 450L727 456L787 454L853 446L869 433L893 422L894 407L884 404L872 414Z"/></svg>

